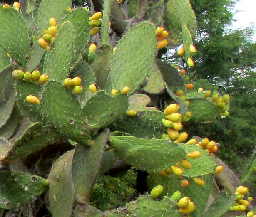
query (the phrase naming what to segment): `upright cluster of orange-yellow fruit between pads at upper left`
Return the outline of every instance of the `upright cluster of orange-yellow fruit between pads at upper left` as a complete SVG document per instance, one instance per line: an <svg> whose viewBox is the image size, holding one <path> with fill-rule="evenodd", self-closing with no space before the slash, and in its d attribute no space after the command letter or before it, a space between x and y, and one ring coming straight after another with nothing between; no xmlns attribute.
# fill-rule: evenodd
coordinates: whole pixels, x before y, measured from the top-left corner
<svg viewBox="0 0 256 217"><path fill-rule="evenodd" d="M57 20L54 17L50 18L49 25L48 30L44 30L43 36L38 39L39 46L46 50L51 49L51 44L54 42L58 31Z"/></svg>

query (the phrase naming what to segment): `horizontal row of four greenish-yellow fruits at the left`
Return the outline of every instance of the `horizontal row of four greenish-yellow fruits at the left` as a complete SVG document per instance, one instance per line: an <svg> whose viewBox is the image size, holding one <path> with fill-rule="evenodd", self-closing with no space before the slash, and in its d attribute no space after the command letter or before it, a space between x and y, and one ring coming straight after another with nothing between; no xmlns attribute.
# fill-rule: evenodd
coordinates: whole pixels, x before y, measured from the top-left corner
<svg viewBox="0 0 256 217"><path fill-rule="evenodd" d="M35 69L31 72L23 72L21 69L13 70L12 76L17 81L35 82L36 84L45 84L49 76L47 74L40 74L40 71Z"/></svg>

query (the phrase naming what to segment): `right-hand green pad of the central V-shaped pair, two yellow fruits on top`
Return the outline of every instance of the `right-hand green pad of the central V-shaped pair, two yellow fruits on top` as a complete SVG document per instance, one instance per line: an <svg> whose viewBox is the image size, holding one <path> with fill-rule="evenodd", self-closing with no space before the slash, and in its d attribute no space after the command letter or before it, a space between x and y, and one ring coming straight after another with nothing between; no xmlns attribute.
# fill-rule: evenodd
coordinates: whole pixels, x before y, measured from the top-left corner
<svg viewBox="0 0 256 217"><path fill-rule="evenodd" d="M104 91L98 91L87 101L83 108L83 116L86 117L88 128L102 128L124 116L127 107L126 94L108 96Z"/></svg>

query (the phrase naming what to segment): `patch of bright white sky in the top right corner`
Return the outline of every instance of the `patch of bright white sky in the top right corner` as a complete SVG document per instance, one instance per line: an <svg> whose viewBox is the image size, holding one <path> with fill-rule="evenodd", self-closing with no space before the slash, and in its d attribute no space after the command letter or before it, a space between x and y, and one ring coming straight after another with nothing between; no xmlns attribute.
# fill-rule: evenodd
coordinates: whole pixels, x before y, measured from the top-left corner
<svg viewBox="0 0 256 217"><path fill-rule="evenodd" d="M256 28L256 0L240 0L240 2L236 3L234 7L234 19L237 20L233 22L233 28L245 28L249 27L251 23L255 25ZM256 41L256 33L254 34L254 41Z"/></svg>

